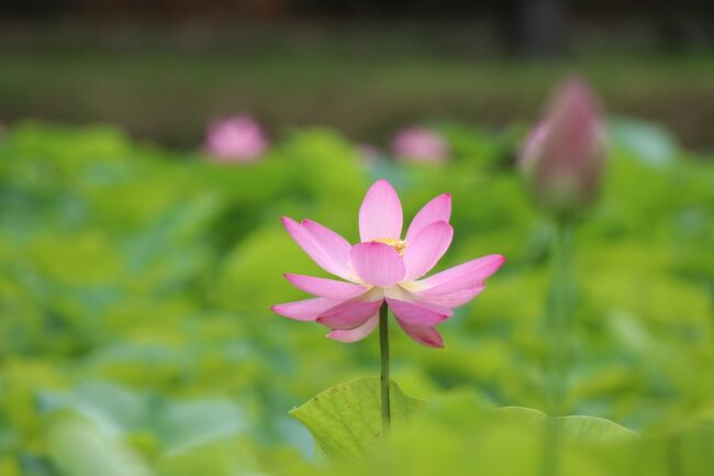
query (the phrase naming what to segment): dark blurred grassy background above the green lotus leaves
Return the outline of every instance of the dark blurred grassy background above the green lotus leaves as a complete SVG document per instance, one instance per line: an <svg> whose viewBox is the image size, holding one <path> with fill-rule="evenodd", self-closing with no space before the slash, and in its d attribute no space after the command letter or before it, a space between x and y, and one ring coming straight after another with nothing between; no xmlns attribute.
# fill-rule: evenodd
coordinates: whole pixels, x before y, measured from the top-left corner
<svg viewBox="0 0 714 476"><path fill-rule="evenodd" d="M384 142L405 122L532 120L562 75L714 148L703 0L3 0L0 120L114 122L191 146L248 111Z"/></svg>

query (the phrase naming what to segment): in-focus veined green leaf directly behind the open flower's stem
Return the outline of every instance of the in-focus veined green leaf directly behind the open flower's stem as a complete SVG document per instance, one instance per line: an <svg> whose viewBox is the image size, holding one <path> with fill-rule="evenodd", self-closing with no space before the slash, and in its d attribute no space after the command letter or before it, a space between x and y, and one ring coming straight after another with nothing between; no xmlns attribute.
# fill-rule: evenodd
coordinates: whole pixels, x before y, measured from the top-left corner
<svg viewBox="0 0 714 476"><path fill-rule="evenodd" d="M390 387L392 424L403 422L422 401ZM359 457L382 433L378 377L362 377L328 388L290 414L312 433L328 457Z"/></svg>

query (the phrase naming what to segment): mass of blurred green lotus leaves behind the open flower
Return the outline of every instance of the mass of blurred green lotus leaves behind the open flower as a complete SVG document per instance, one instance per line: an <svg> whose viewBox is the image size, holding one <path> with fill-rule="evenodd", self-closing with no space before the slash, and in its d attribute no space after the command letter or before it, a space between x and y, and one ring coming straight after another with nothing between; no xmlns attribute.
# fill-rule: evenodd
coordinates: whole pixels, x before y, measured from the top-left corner
<svg viewBox="0 0 714 476"><path fill-rule="evenodd" d="M111 126L7 130L0 474L314 473L311 436L288 411L377 374L377 339L335 343L268 311L302 296L281 273L321 274L279 218L310 217L355 242L376 177L395 185L408 217L453 193L456 236L439 267L489 253L509 262L442 326L445 350L394 332L393 378L432 401L411 430L397 429L398 457L381 447L320 471L534 474L537 432L487 409L545 407L550 228L515 173L520 128L436 126L454 151L444 166L365 162L323 129L295 130L243 167ZM604 453L576 442L565 464L582 475L705 474L714 467L714 166L648 124L614 121L611 136L602 200L577 231L568 407L645 438Z"/></svg>

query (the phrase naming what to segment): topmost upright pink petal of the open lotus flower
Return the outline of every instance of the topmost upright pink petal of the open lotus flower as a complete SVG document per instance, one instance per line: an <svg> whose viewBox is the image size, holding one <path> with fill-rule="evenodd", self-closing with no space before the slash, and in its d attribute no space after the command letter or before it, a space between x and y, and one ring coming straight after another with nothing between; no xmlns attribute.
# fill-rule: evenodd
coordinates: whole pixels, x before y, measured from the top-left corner
<svg viewBox="0 0 714 476"><path fill-rule="evenodd" d="M359 236L362 242L397 239L402 235L402 203L387 180L372 185L359 208Z"/></svg>

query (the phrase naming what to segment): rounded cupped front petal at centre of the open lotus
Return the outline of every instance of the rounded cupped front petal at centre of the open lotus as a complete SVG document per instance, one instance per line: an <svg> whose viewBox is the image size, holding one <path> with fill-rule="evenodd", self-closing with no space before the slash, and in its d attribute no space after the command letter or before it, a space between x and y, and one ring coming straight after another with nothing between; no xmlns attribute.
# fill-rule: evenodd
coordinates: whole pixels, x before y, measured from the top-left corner
<svg viewBox="0 0 714 476"><path fill-rule="evenodd" d="M402 257L384 243L358 243L353 246L350 257L357 275L370 285L389 287L404 277Z"/></svg>

